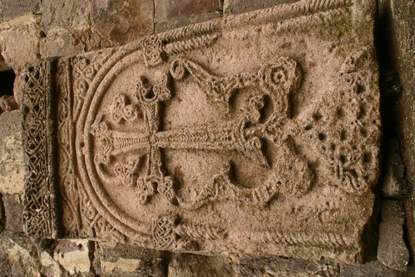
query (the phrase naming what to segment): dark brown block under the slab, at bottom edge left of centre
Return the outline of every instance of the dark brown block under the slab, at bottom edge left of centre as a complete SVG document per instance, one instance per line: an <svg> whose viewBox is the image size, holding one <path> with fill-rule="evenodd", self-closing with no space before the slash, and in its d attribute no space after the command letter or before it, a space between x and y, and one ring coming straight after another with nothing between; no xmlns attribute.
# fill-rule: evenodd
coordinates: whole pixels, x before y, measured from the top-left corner
<svg viewBox="0 0 415 277"><path fill-rule="evenodd" d="M174 255L169 262L168 277L233 277L232 260L225 256Z"/></svg>

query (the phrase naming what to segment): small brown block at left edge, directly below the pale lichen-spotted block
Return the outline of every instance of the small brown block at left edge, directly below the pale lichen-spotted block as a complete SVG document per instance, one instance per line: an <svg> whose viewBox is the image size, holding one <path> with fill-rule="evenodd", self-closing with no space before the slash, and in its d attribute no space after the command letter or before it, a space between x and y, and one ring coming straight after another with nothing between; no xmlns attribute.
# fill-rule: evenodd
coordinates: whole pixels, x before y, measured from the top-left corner
<svg viewBox="0 0 415 277"><path fill-rule="evenodd" d="M5 229L23 233L23 205L21 195L3 195L4 213L6 217Z"/></svg>

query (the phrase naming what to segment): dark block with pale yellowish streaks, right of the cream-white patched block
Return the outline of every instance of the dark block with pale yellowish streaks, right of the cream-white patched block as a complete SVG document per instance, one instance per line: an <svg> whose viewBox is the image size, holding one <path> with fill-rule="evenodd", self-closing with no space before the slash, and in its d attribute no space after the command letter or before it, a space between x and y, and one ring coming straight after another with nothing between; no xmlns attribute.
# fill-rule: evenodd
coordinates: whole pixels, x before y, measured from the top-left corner
<svg viewBox="0 0 415 277"><path fill-rule="evenodd" d="M164 275L163 253L127 244L101 242L95 244L95 269L100 276Z"/></svg>

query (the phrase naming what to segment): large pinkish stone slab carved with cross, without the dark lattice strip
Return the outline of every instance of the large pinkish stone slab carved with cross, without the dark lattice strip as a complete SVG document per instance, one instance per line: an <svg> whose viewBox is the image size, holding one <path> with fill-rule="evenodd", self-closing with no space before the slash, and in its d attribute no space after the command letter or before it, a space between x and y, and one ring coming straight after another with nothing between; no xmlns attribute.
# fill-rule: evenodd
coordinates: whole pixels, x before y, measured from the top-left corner
<svg viewBox="0 0 415 277"><path fill-rule="evenodd" d="M360 262L379 166L374 7L299 1L59 59L64 236Z"/></svg>

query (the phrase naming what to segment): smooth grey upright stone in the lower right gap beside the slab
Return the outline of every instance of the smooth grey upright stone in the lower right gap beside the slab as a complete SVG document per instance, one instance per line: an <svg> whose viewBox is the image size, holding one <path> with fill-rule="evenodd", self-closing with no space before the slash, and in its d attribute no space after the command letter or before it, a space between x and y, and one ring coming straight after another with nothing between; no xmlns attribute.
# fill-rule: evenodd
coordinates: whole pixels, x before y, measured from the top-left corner
<svg viewBox="0 0 415 277"><path fill-rule="evenodd" d="M382 202L382 222L379 226L378 260L397 270L407 270L409 251L403 240L405 212L398 200Z"/></svg>

